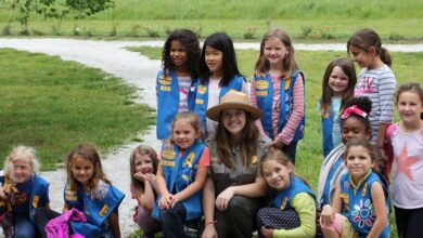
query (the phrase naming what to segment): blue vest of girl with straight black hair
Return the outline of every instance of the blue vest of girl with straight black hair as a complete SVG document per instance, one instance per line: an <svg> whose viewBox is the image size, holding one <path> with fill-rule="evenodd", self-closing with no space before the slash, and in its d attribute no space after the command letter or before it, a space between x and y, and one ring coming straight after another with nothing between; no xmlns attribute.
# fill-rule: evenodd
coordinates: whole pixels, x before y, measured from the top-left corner
<svg viewBox="0 0 423 238"><path fill-rule="evenodd" d="M245 82L244 77L235 76L229 81L228 85L223 85L220 90L219 98L222 97L230 90L235 90L241 92L242 84ZM201 119L202 132L203 135L206 135L206 111L208 104L208 82L205 84L198 84L196 88L195 94L195 106L194 113Z"/></svg>

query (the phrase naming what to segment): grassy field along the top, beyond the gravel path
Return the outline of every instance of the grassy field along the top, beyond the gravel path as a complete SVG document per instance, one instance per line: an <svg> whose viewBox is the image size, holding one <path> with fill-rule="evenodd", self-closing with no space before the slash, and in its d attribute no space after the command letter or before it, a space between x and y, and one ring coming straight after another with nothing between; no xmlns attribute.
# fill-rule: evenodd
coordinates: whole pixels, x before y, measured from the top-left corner
<svg viewBox="0 0 423 238"><path fill-rule="evenodd" d="M227 31L234 39L257 40L269 27L285 28L297 41L346 39L357 29L374 28L384 42L423 41L423 3L394 1L170 1L116 0L115 8L84 19L57 21L31 15L28 30L15 21L11 0L0 3L0 35L72 36L101 39L164 38L188 27L201 37Z"/></svg>

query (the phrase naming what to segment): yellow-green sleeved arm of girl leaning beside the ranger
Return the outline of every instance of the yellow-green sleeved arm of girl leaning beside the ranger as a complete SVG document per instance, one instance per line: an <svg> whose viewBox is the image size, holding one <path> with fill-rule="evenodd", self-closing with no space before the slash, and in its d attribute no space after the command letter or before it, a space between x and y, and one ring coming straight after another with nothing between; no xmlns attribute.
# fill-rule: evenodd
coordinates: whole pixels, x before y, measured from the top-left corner
<svg viewBox="0 0 423 238"><path fill-rule="evenodd" d="M315 199L307 193L299 193L293 198L291 204L298 212L300 226L294 229L274 229L273 237L315 237Z"/></svg>

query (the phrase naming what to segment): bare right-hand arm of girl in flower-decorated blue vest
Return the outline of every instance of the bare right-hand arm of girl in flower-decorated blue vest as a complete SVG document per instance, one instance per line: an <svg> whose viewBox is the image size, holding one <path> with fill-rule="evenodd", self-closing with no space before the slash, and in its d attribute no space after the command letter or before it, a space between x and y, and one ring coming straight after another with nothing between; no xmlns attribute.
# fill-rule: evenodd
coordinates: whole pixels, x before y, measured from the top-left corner
<svg viewBox="0 0 423 238"><path fill-rule="evenodd" d="M385 193L380 183L373 183L370 194L372 196L376 220L374 221L368 237L377 238L386 225L389 224L386 212Z"/></svg>

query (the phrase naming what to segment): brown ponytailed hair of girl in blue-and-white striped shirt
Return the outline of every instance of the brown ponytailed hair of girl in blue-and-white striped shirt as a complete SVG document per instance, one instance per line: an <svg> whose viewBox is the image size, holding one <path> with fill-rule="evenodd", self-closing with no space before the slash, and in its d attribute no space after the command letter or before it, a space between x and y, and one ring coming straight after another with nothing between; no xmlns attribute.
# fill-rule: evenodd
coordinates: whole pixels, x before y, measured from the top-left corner
<svg viewBox="0 0 423 238"><path fill-rule="evenodd" d="M370 48L374 47L376 55L381 57L381 61L387 66L392 66L393 61L389 52L386 48L382 47L382 41L376 31L372 29L360 29L356 31L347 42L347 52L350 54L350 47L359 48L366 52L369 52Z"/></svg>

